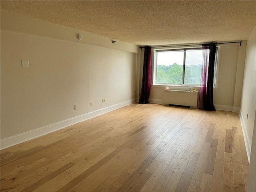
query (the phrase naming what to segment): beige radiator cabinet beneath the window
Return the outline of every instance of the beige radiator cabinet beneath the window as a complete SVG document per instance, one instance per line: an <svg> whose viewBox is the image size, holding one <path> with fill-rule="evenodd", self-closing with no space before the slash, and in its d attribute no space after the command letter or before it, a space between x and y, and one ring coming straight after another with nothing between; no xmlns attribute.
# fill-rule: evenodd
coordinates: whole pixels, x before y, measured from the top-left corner
<svg viewBox="0 0 256 192"><path fill-rule="evenodd" d="M198 91L164 90L164 104L197 108Z"/></svg>

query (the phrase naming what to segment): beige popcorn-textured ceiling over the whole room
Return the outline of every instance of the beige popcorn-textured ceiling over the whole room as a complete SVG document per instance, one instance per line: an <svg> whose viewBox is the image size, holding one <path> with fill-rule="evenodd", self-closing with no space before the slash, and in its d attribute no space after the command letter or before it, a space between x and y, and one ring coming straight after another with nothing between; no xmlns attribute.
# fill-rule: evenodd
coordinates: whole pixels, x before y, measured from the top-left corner
<svg viewBox="0 0 256 192"><path fill-rule="evenodd" d="M1 1L1 10L137 45L247 39L256 1Z"/></svg>

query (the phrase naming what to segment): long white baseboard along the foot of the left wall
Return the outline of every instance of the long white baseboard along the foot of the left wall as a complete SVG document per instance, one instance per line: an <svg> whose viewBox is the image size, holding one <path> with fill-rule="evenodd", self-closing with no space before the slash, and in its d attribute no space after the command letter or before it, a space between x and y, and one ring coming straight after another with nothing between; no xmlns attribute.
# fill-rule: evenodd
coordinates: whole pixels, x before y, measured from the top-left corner
<svg viewBox="0 0 256 192"><path fill-rule="evenodd" d="M115 104L115 105L112 105L112 106L108 106L108 107L105 107L105 108L102 108L102 109L99 109L99 110L95 110L95 111L92 111L92 112L89 112L89 113L86 113L86 114L82 114L82 115L79 115L79 116L76 116L76 117L73 117L73 118L69 118L69 119L66 119L66 120L63 120L63 121L60 121L60 122L56 122L56 123L53 123L53 124L50 124L50 125L46 125L46 126L43 126L43 127L40 127L40 128L36 128L36 129L30 130L30 131L27 131L27 132L24 132L24 133L20 133L20 134L17 134L17 135L8 137L8 138L4 138L0 141L1 150L5 149L5 148L8 148L10 146L14 146L14 145L19 144L19 143L34 139L34 138L37 138L39 136L48 134L50 132L54 132L56 130L65 128L67 126L70 126L70 125L88 120L90 118L102 115L104 113L116 110L118 108L124 107L124 106L132 104L134 102L136 102L136 98L125 101L125 102L122 102L122 103L118 103L118 104Z"/></svg>

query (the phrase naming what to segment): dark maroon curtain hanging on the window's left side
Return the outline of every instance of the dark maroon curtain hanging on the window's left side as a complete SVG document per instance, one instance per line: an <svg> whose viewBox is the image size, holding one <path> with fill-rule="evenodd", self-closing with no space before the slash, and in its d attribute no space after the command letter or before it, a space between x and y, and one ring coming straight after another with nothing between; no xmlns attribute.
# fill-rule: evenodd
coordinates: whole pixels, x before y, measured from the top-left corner
<svg viewBox="0 0 256 192"><path fill-rule="evenodd" d="M144 48L143 76L140 92L140 104L147 104L151 88L151 47Z"/></svg>

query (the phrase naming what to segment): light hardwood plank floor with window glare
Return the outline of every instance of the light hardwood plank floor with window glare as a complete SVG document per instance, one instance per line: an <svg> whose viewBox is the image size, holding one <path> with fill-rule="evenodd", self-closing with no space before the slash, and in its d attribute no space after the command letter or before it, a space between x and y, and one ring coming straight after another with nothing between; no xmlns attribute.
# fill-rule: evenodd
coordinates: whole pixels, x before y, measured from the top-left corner
<svg viewBox="0 0 256 192"><path fill-rule="evenodd" d="M239 116L131 104L1 150L4 191L245 191Z"/></svg>

